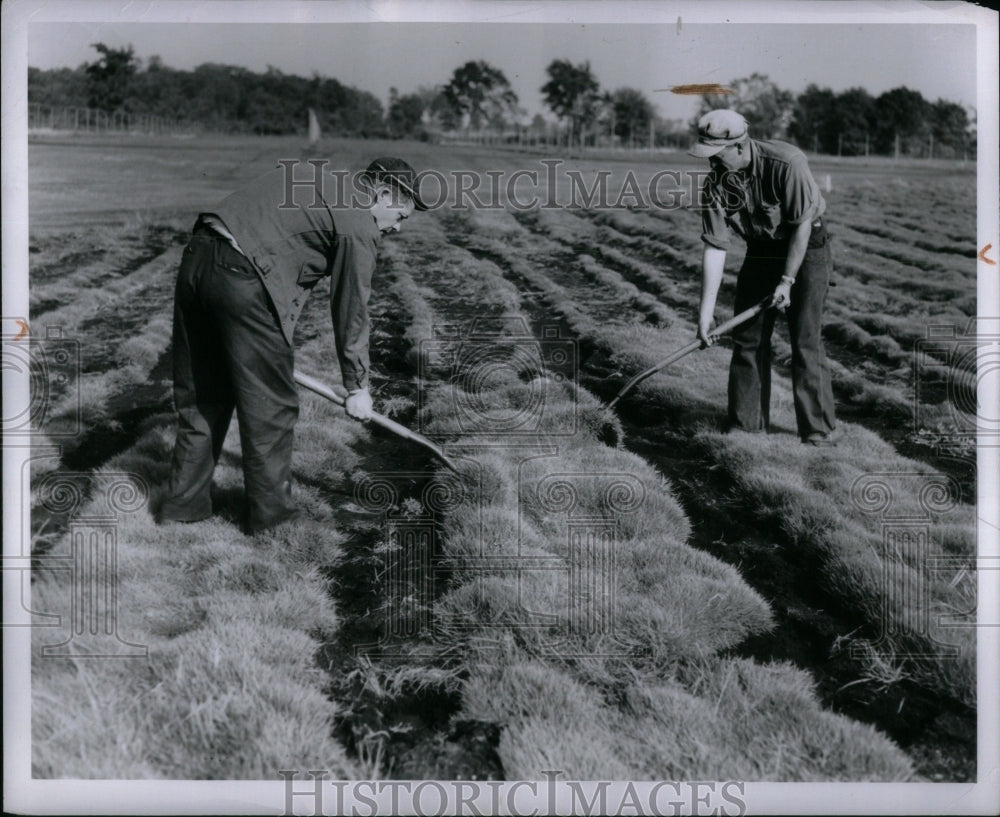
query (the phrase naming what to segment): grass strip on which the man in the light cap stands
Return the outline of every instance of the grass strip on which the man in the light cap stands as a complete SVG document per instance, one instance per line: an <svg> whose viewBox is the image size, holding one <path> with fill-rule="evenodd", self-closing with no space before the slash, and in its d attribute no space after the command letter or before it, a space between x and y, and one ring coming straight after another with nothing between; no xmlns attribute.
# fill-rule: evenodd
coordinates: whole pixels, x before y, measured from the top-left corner
<svg viewBox="0 0 1000 817"><path fill-rule="evenodd" d="M493 229L478 214L475 219L469 245L500 259L519 279L543 291L547 306L567 320L581 344L603 353L601 368L641 370L693 334L680 319L665 330L638 323L595 323L581 307L584 296L553 280L555 268L539 252L537 236L519 233L509 219ZM569 285L573 276L563 273ZM718 414L718 407L725 405L725 366L719 357L714 352L695 356L650 378L636 390L633 405L643 406L647 415L688 418L685 422L697 431L695 418ZM775 385L772 421L779 428L794 429L790 389L781 382ZM876 641L886 631L887 644L880 652L901 657L903 674L930 693L972 705L974 629L955 627L942 617L970 609L968 590L954 586L934 567L935 560L974 557L974 509L955 495L955 486L851 424L842 424L841 448L819 455L792 434L744 441L744 435L724 435L710 427L703 432L704 439L712 441L704 446L706 467L731 476L739 506L747 513L780 520L776 532L781 540L815 559L818 586L835 588L834 594L861 614L867 638ZM890 516L852 495L852 486L868 476L889 483L886 491L894 503ZM928 504L923 493L928 485L944 486L946 501L940 507ZM926 525L926 548L894 553L883 547L885 525L897 508ZM918 604L929 607L916 609L913 605ZM864 677L870 656L863 649L859 656L859 674Z"/></svg>

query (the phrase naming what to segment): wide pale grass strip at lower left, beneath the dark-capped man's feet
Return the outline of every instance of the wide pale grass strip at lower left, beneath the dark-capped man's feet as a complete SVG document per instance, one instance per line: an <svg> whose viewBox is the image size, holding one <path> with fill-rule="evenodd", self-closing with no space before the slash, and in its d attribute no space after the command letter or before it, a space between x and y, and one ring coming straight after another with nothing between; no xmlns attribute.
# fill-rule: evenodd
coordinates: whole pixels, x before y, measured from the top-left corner
<svg viewBox="0 0 1000 817"><path fill-rule="evenodd" d="M169 432L166 423L151 428L96 471L99 496L81 507L81 517L107 513L103 492L122 484L111 475L127 474L126 490L162 482ZM222 492L237 494L241 480L232 465L217 471ZM76 524L86 535L87 526ZM79 549L87 545L78 542L74 553L70 537L36 572L34 608L59 615L62 627L33 631L34 776L272 779L285 768L357 774L331 737L333 711L314 659L319 639L337 626L318 567L337 558L325 530L314 524L311 536L299 531L294 542L249 541L225 516L160 528L142 509L119 514L114 536L116 574L101 580L115 582L120 641L77 635L56 647L68 655L48 654L70 627L89 626L81 616L103 615L107 587L83 584L79 572L46 570L57 558L84 561Z"/></svg>

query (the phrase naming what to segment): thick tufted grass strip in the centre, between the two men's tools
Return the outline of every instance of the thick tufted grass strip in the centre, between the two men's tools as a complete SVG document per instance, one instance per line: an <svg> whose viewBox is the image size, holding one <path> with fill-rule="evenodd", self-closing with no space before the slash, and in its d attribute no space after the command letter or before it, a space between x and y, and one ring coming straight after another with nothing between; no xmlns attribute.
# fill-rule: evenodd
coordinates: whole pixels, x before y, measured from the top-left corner
<svg viewBox="0 0 1000 817"><path fill-rule="evenodd" d="M464 241L481 253L461 263L450 262L447 246L433 247L433 265L411 256L411 244L400 250L420 279L403 290L423 288L406 305L411 315L448 314L449 294L470 287L484 312L509 307L509 273L489 260L509 245L487 242L492 225L475 218ZM494 229L509 239L520 228ZM439 240L449 240L444 231ZM420 248L425 257L433 244ZM394 274L406 273L396 265ZM554 286L544 275L530 283L545 297ZM462 668L460 716L501 727L505 776L911 774L876 730L823 711L807 674L725 656L770 627L766 603L732 567L686 544L690 526L670 485L640 457L601 442L606 422L592 395L528 364L498 367L469 391L461 378L442 382L446 366L431 374L421 424L451 441L462 470L460 486L440 473L450 486L439 534L450 579L433 607L433 640ZM463 407L502 417L538 393L544 414L527 439L455 433ZM599 520L601 533L575 537L578 519Z"/></svg>

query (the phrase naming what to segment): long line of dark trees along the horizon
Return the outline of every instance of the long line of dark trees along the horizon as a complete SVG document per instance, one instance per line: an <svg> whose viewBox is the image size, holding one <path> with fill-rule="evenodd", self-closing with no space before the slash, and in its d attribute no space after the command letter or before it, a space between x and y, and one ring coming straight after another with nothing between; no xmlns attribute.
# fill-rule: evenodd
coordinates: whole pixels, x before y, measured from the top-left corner
<svg viewBox="0 0 1000 817"><path fill-rule="evenodd" d="M77 69L29 68L29 102L157 115L236 133L300 133L312 109L324 132L343 136L430 139L488 131L499 139L620 147L685 147L701 114L731 107L756 138L787 139L818 153L966 158L975 152L974 111L970 116L961 105L931 102L905 87L874 97L864 88L836 93L813 84L796 96L755 73L703 95L691 121L667 120L635 88L602 88L589 62L556 59L539 89L556 122L541 114L529 122L503 71L483 60L456 68L442 85L409 94L391 88L384 108L373 94L319 74L216 63L181 71L155 56L143 66L132 46L94 48L98 58Z"/></svg>

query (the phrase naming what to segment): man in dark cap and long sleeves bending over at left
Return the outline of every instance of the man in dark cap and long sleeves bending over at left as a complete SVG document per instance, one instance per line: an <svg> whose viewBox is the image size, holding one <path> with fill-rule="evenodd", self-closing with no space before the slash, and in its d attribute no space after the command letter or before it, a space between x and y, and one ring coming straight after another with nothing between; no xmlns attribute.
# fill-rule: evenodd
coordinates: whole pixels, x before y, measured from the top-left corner
<svg viewBox="0 0 1000 817"><path fill-rule="evenodd" d="M292 434L298 418L292 336L310 290L330 279L347 413L371 416L368 297L379 241L427 209L402 159L373 161L347 204L339 176L279 167L202 213L184 250L174 301L177 439L163 522L212 513L209 489L233 409L239 419L250 532L295 515ZM324 190L326 181L329 189ZM331 195L337 194L337 195Z"/></svg>

